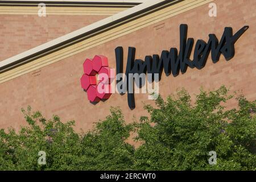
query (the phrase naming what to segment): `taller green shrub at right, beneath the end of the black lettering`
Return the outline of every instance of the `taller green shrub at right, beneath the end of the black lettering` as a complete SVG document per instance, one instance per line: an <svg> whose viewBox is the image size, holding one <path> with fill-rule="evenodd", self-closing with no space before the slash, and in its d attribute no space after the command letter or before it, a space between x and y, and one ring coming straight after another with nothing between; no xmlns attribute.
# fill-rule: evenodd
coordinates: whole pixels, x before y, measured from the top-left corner
<svg viewBox="0 0 256 182"><path fill-rule="evenodd" d="M231 96L222 86L214 92L201 90L195 105L185 90L161 97L157 107L146 105L151 115L137 124L135 169L142 170L255 170L256 102L238 96L239 109L225 110ZM152 125L154 123L154 125ZM217 164L209 165L209 151Z"/></svg>

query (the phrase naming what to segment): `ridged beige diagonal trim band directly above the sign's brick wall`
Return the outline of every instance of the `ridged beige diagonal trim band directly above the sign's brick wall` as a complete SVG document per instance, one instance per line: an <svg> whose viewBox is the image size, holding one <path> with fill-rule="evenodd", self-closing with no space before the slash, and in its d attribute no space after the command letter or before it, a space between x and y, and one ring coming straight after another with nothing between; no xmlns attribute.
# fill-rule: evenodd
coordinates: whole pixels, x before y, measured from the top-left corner
<svg viewBox="0 0 256 182"><path fill-rule="evenodd" d="M9 71L0 74L0 83L11 80L12 78L24 75L35 69L45 67L46 65L55 63L56 61L63 60L67 57L75 55L79 52L85 51L86 49L96 47L100 44L109 42L110 40L116 39L120 36L130 34L131 32L137 31L143 27L150 26L151 24L160 22L161 20L170 18L172 16L184 13L185 11L194 9L206 3L212 2L213 0L185 0L175 5L165 7L158 11L152 12L142 16L141 18L132 20L131 22L121 24L115 28L104 31L95 36L91 36L79 43L71 46L59 49L58 51L49 53L46 56L35 59L29 63L20 65L19 67L10 69Z"/></svg>

